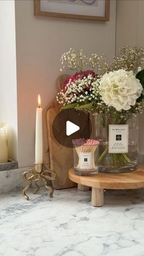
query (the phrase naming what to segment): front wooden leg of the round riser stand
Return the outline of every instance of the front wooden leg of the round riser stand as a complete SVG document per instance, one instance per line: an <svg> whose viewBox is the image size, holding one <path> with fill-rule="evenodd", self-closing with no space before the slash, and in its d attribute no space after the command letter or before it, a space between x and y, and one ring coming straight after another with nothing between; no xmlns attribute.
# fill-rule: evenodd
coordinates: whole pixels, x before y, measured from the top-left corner
<svg viewBox="0 0 144 256"><path fill-rule="evenodd" d="M92 206L102 207L104 205L104 189L92 188Z"/></svg>

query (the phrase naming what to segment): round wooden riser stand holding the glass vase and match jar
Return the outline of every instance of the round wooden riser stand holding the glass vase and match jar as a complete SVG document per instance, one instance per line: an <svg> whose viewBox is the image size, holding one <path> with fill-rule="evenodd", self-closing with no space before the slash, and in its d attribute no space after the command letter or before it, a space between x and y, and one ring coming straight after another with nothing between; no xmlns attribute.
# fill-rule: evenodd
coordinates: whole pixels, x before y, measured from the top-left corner
<svg viewBox="0 0 144 256"><path fill-rule="evenodd" d="M78 184L78 189L88 191L92 187L92 205L104 205L104 189L136 189L144 188L144 165L137 167L134 172L125 174L106 174L99 172L97 176L84 177L74 174L74 169L69 170L69 178Z"/></svg>

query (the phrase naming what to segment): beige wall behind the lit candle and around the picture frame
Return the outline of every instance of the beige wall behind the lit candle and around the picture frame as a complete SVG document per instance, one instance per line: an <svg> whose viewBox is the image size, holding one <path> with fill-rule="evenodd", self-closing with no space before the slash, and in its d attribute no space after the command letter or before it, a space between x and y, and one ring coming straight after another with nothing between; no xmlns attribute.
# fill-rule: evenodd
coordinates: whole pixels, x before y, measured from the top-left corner
<svg viewBox="0 0 144 256"><path fill-rule="evenodd" d="M61 54L72 47L115 55L116 1L107 22L35 17L33 8L33 1L15 1L20 167L34 164L37 95L43 108L56 97Z"/></svg>

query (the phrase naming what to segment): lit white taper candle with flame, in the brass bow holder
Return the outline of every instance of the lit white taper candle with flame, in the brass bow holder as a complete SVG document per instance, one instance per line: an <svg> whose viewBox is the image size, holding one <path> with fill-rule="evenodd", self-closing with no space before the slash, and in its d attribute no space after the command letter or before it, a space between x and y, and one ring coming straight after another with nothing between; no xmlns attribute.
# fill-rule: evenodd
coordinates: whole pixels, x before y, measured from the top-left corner
<svg viewBox="0 0 144 256"><path fill-rule="evenodd" d="M42 108L40 95L38 95L38 108L36 111L35 125L35 164L43 163L43 125L42 125Z"/></svg>

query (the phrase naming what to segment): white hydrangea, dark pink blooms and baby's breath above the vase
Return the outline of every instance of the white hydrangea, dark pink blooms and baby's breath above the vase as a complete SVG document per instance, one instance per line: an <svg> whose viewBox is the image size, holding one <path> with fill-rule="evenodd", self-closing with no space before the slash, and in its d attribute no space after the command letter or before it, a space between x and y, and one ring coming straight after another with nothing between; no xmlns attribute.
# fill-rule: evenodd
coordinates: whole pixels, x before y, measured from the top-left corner
<svg viewBox="0 0 144 256"><path fill-rule="evenodd" d="M62 104L62 108L129 115L143 111L144 93L141 93L142 88L138 88L139 90L137 89L135 92L134 83L137 84L140 81L139 83L144 89L144 70L142 70L144 48L124 46L120 48L120 56L113 57L112 64L106 63L104 55L92 54L90 57L86 57L82 49L76 51L70 48L67 53L62 54L60 61L62 63L60 70L77 71L74 75L68 76L63 83L62 91L57 95L57 101ZM124 83L123 79L128 78L128 71L131 71L129 74L133 80L131 82L129 78ZM110 84L109 79L114 73L117 90L115 90L115 86L113 87L113 80ZM125 75L120 76L120 73ZM118 74L120 79L117 79ZM126 88L128 93L126 93ZM119 97L120 95L121 97Z"/></svg>

